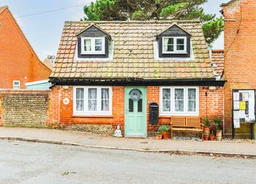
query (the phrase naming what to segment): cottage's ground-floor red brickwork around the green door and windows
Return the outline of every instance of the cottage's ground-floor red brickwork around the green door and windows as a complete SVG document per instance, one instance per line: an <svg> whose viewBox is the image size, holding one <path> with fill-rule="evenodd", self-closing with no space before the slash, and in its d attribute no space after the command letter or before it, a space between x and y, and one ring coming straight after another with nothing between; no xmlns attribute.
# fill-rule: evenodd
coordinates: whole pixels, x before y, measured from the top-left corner
<svg viewBox="0 0 256 184"><path fill-rule="evenodd" d="M51 92L51 113L48 123L60 123L62 127L72 127L72 125L112 125L115 129L119 124L124 133L124 87L112 87L112 115L72 115L73 114L73 88L64 89L60 86L52 88ZM208 96L205 97L205 92ZM64 105L64 98L69 99L69 104ZM206 103L206 98L208 102ZM157 102L159 104L159 87L147 87L147 101ZM206 108L207 107L207 108ZM59 109L58 109L59 108ZM209 90L207 87L200 87L200 115L208 117L221 118L223 120L223 87L217 87L215 90ZM59 118L58 118L59 115ZM159 125L170 123L171 116L161 116L158 125L149 124L149 105L147 104L147 122L148 135L155 133ZM86 127L86 129L88 129Z"/></svg>

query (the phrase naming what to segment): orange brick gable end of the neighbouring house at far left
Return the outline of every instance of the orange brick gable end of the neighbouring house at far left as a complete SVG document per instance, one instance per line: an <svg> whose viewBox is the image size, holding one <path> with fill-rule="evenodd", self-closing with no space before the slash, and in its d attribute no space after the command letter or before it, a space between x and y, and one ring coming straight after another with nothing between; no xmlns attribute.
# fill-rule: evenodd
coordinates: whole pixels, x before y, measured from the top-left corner
<svg viewBox="0 0 256 184"><path fill-rule="evenodd" d="M48 69L33 51L7 6L0 7L0 89L24 89L48 79Z"/></svg>

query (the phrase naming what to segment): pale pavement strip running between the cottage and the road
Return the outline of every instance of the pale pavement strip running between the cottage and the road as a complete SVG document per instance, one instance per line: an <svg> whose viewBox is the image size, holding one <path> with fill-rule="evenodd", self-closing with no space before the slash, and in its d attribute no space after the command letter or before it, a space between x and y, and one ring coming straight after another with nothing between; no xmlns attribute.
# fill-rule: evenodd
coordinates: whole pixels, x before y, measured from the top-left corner
<svg viewBox="0 0 256 184"><path fill-rule="evenodd" d="M179 154L221 154L227 156L256 157L256 141L201 141L183 139L116 138L95 133L75 132L47 128L0 127L0 139L36 141L50 144L87 146L102 149L122 149L139 152L174 152Z"/></svg>

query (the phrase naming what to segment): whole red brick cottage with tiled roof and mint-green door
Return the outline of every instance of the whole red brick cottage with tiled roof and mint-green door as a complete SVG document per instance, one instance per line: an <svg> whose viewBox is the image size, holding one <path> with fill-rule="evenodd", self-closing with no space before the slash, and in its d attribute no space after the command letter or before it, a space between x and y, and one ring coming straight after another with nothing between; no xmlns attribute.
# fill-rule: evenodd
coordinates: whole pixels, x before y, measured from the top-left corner
<svg viewBox="0 0 256 184"><path fill-rule="evenodd" d="M173 115L223 120L224 82L212 66L197 21L65 22L49 123L148 136Z"/></svg>

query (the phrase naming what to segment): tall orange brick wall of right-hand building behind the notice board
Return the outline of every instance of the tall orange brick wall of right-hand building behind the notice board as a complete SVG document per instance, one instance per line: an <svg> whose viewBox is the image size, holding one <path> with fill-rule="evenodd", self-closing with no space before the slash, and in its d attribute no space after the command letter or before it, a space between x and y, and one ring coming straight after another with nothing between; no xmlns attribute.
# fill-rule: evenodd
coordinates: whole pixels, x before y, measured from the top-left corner
<svg viewBox="0 0 256 184"><path fill-rule="evenodd" d="M225 131L231 133L232 89L256 89L256 1L233 1L223 6L225 54ZM242 125L237 133L249 133Z"/></svg>

